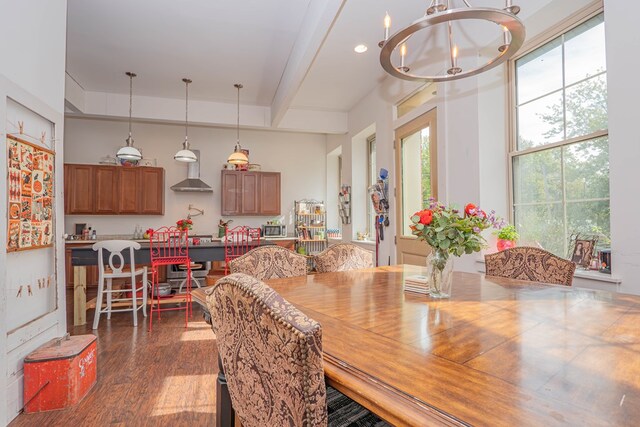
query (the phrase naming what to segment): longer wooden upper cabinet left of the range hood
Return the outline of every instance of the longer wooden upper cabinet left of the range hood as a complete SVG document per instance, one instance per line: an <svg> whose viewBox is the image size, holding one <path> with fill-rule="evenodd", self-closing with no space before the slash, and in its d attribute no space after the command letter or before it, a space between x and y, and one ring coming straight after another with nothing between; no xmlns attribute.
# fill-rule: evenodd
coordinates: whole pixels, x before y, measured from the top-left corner
<svg viewBox="0 0 640 427"><path fill-rule="evenodd" d="M162 215L164 169L64 165L65 214Z"/></svg>

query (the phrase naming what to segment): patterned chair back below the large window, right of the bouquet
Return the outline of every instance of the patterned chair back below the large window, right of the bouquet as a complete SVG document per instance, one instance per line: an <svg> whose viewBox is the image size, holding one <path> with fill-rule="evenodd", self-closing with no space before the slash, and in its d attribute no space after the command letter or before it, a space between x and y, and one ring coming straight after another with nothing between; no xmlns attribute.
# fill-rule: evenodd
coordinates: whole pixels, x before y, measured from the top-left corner
<svg viewBox="0 0 640 427"><path fill-rule="evenodd" d="M520 246L484 256L487 276L571 286L576 265L540 248Z"/></svg>

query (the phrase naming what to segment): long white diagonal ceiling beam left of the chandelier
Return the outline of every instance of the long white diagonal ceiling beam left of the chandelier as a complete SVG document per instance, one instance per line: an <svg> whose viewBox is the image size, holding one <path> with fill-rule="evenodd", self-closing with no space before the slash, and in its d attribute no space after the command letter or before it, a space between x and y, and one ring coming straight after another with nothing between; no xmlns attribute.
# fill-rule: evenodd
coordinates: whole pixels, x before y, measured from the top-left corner
<svg viewBox="0 0 640 427"><path fill-rule="evenodd" d="M278 127L322 48L346 0L311 0L271 103L271 125Z"/></svg>

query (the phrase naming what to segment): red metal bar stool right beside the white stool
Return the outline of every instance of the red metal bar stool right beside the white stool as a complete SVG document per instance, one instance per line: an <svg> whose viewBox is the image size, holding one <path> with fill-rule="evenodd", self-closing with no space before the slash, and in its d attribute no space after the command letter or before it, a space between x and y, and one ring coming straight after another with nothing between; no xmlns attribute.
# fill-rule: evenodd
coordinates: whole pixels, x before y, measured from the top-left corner
<svg viewBox="0 0 640 427"><path fill-rule="evenodd" d="M153 327L153 313L158 313L160 319L161 311L185 310L184 326L189 323L189 315L192 313L191 306L191 258L189 258L189 231L180 230L176 227L161 227L154 230L149 237L149 253L151 255L151 315L149 316L149 331ZM159 289L158 268L165 265L184 265L187 270L186 293L184 296L176 295L171 299L184 298L184 307L165 307L162 308ZM169 298L167 298L169 299Z"/></svg>

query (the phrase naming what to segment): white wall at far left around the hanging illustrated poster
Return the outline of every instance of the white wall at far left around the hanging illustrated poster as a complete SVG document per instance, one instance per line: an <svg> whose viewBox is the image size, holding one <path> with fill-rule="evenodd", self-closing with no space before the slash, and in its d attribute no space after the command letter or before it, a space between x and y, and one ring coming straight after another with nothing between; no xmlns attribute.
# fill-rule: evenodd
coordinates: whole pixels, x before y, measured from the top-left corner
<svg viewBox="0 0 640 427"><path fill-rule="evenodd" d="M64 64L66 37L66 0L0 0L3 25L0 26L0 134L13 133L15 129L7 120L21 116L25 120L25 132L40 135L51 122L55 126L56 158L55 188L56 221L55 249L40 249L21 254L7 254L5 244L0 245L0 425L14 418L22 407L22 360L26 354L42 343L66 332L64 299L64 244L61 219L63 218L62 192L62 136L64 112ZM7 108L7 97L27 107L31 112L18 112ZM41 117L39 117L41 116ZM24 139L31 140L29 137ZM3 144L5 142L3 141ZM0 150L0 240L7 241L7 170L6 149ZM58 222L59 221L59 222ZM40 265L42 264L42 265ZM23 276L32 266L54 270L57 293L57 309L45 315L35 314L40 298L49 297L38 292L21 301L24 312L33 318L24 327L9 331L9 321L22 324L25 319L15 319L8 310L15 280L31 281ZM26 284L26 283L25 283ZM37 290L37 283L30 283ZM36 301L36 299L38 299ZM15 302L12 302L15 305ZM35 310L35 311L34 311ZM44 311L47 311L46 309ZM7 316L11 315L11 319ZM35 317L34 317L35 316Z"/></svg>

